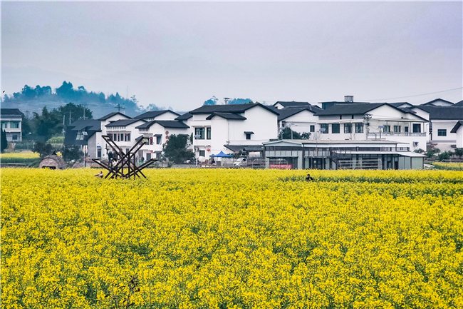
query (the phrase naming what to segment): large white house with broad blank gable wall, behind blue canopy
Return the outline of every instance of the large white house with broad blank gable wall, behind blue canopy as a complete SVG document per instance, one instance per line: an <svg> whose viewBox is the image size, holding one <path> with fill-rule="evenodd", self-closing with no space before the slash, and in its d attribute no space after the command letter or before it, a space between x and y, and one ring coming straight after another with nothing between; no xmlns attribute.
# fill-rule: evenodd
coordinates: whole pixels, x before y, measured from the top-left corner
<svg viewBox="0 0 463 309"><path fill-rule="evenodd" d="M262 146L278 137L278 116L274 109L262 105L208 105L189 111L187 119L194 136L197 156L209 158L220 151L231 153L227 146ZM179 119L179 117L177 117Z"/></svg>

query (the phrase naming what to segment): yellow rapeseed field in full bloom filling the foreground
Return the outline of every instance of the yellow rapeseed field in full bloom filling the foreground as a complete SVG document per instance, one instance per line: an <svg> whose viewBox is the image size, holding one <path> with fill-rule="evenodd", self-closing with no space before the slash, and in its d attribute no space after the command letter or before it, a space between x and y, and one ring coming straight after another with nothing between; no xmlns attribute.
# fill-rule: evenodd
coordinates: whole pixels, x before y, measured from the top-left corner
<svg viewBox="0 0 463 309"><path fill-rule="evenodd" d="M2 308L463 308L463 172L1 169Z"/></svg>

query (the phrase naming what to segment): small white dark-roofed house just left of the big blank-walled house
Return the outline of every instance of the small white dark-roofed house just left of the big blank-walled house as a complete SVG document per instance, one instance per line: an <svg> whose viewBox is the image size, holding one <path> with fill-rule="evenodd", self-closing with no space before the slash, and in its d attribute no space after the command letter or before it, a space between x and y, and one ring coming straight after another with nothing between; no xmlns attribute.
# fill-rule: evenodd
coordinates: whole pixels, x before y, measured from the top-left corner
<svg viewBox="0 0 463 309"><path fill-rule="evenodd" d="M138 157L143 157L145 160L150 158L161 158L162 146L168 143L169 136L187 135L189 126L176 120L153 120L147 123L142 123L135 127L138 138L147 138L147 143L142 146L138 153Z"/></svg>

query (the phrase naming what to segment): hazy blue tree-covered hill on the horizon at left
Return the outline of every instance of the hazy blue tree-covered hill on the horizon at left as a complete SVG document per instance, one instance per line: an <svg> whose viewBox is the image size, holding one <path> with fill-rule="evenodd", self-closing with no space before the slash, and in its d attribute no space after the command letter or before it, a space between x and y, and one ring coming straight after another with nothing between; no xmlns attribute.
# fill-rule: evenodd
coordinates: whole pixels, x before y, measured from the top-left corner
<svg viewBox="0 0 463 309"><path fill-rule="evenodd" d="M93 111L93 117L98 119L117 110L117 106L125 108L123 111L129 116L135 116L145 111L157 111L161 108L150 104L147 108L138 105L135 96L122 98L119 93L105 96L103 92L86 91L84 86L73 88L71 82L63 84L52 90L51 86L30 87L25 85L20 92L12 95L5 94L1 101L1 108L19 108L20 111L31 116L33 112L40 113L43 106L48 110L58 108L66 103L82 104Z"/></svg>

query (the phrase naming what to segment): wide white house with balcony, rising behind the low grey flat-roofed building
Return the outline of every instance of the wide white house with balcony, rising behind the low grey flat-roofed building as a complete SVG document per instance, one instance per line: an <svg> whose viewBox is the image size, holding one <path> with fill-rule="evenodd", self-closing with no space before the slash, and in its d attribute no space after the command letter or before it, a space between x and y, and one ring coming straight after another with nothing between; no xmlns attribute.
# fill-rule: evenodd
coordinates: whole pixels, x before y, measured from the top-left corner
<svg viewBox="0 0 463 309"><path fill-rule="evenodd" d="M426 149L427 119L389 103L335 103L315 116L316 139L395 141Z"/></svg>

